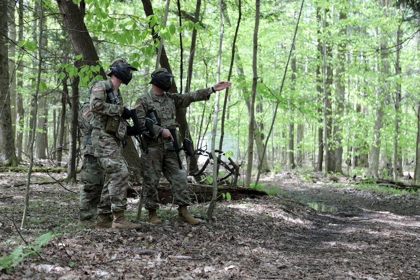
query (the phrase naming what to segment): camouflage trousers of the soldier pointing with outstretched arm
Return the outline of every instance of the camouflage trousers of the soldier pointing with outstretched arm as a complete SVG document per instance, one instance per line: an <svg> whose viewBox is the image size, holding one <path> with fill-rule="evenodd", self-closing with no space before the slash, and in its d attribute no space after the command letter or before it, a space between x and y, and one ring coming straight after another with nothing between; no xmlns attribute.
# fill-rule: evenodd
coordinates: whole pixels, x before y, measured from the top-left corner
<svg viewBox="0 0 420 280"><path fill-rule="evenodd" d="M173 148L170 144L159 144L148 148L148 152L142 153L140 162L143 177L143 197L147 210L159 209L159 197L157 186L160 175L172 185L174 203L178 205L190 205L190 197L185 169L179 168L177 154L166 151Z"/></svg>

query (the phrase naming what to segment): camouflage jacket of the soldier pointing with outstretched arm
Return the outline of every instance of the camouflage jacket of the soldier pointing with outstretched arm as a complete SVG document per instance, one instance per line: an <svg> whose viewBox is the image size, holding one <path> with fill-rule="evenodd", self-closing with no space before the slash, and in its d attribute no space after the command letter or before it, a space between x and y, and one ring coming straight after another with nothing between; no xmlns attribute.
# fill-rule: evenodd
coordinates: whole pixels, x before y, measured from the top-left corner
<svg viewBox="0 0 420 280"><path fill-rule="evenodd" d="M148 146L154 146L163 143L160 136L163 128L176 128L179 126L175 122L175 113L177 108L186 108L191 102L208 100L212 89L203 89L185 94L180 93L163 93L157 96L150 90L148 93L141 95L135 102L137 119L142 126L146 122L146 118L150 118L149 112L155 109L155 114L159 120L154 125L155 137L147 137Z"/></svg>

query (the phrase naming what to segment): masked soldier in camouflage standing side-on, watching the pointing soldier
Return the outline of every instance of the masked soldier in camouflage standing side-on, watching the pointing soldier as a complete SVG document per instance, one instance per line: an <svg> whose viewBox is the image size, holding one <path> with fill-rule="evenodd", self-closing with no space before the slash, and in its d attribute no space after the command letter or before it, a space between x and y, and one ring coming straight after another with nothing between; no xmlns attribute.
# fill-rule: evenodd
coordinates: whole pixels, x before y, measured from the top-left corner
<svg viewBox="0 0 420 280"><path fill-rule="evenodd" d="M113 228L137 229L141 225L125 219L127 209L128 168L121 154L127 134L127 119L131 111L124 107L120 85L128 85L136 68L125 59L117 59L110 67L109 80L98 80L90 88L90 108L94 156L104 173L104 184L98 204L97 227L108 227L108 217L114 214ZM129 126L128 126L129 127Z"/></svg>

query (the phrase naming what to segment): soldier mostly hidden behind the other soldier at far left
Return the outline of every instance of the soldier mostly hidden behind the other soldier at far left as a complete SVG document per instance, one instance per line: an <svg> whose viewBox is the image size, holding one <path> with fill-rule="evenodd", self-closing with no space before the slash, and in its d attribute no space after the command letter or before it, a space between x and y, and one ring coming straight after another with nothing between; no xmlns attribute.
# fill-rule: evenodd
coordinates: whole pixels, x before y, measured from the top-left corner
<svg viewBox="0 0 420 280"><path fill-rule="evenodd" d="M89 102L85 102L79 109L79 129L83 136L83 163L80 172L83 187L80 189L79 221L77 222L79 227L96 226L92 219L96 216L96 207L100 201L103 187L103 172L94 157L91 142L92 126L89 122L93 117Z"/></svg>

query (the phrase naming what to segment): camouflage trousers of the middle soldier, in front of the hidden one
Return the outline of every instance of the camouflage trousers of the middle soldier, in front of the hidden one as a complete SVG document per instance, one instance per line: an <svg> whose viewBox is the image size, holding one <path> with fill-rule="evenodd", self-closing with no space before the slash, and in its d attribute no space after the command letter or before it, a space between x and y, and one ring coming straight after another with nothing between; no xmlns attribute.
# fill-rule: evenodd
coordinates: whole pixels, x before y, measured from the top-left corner
<svg viewBox="0 0 420 280"><path fill-rule="evenodd" d="M99 214L125 211L127 209L128 168L119 152L115 158L99 157L105 177L98 204Z"/></svg>

